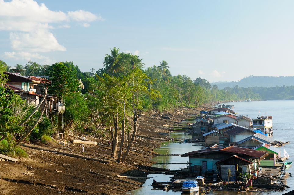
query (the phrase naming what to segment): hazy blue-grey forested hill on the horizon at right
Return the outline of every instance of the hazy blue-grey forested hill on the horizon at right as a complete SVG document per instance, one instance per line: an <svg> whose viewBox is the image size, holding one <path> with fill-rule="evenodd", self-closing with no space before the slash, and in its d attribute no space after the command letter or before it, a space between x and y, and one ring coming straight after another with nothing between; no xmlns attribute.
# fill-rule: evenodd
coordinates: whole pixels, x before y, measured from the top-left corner
<svg viewBox="0 0 294 195"><path fill-rule="evenodd" d="M294 85L294 76L248 76L240 81L232 82L214 82L211 85L217 85L219 89L225 87L276 87L276 86L291 86Z"/></svg>

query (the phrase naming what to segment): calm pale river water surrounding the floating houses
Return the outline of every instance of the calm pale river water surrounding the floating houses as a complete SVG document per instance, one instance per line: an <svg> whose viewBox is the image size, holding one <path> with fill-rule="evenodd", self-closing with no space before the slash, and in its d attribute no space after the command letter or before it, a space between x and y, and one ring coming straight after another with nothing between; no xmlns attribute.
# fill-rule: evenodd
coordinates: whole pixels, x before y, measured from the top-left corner
<svg viewBox="0 0 294 195"><path fill-rule="evenodd" d="M256 119L258 116L258 111L260 111L261 115L269 115L273 117L273 139L278 141L290 141L290 144L286 144L284 147L279 147L281 149L281 155L283 155L283 148L288 152L290 155L290 159L294 158L294 101L252 101L252 102L233 102L228 103L233 104L235 108L233 109L238 115L248 115L252 119ZM193 122L193 121L188 121ZM187 123L187 121L185 121ZM170 133L170 137L175 138L191 138L190 135L187 135L182 132L177 133ZM201 146L196 146L195 143L173 143L172 141L163 142L160 148L155 149L155 151L159 154L185 154L190 151L200 150ZM156 163L175 163L181 162L185 163L188 162L188 157L181 157L181 156L155 156L152 158L152 161ZM178 170L180 168L185 167L185 164L154 164L153 166L161 167L161 168L168 168L171 170ZM294 173L294 166L287 169L287 172ZM169 190L169 191L162 191L153 189L151 186L153 179L159 182L170 181L171 175L164 175L164 174L149 174L148 177L154 177L147 179L146 182L143 184L144 187L133 190L128 192L127 194L131 195L161 195L161 194L168 194L168 195L180 195L181 191L179 190ZM290 186L289 190L294 190L294 177L289 177L287 180L288 186ZM287 191L286 191L287 192ZM230 192L230 191L217 191L217 192L210 192L210 194L237 194L237 192ZM270 195L279 195L284 194L284 191L269 191L269 192L250 192L250 193L242 193L243 195L262 195L262 194L270 194Z"/></svg>

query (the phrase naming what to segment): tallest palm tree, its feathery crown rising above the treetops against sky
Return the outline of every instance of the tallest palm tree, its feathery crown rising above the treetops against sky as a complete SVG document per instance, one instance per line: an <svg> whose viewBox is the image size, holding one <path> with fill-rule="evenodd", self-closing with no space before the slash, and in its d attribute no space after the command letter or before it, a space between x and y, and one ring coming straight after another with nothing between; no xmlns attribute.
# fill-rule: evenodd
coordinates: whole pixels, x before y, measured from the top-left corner
<svg viewBox="0 0 294 195"><path fill-rule="evenodd" d="M119 50L119 48L113 47L113 49L110 49L110 55L106 54L104 57L104 66L106 66L109 72L112 72L112 77L114 72L117 73L123 69L125 63L124 59L118 52Z"/></svg>

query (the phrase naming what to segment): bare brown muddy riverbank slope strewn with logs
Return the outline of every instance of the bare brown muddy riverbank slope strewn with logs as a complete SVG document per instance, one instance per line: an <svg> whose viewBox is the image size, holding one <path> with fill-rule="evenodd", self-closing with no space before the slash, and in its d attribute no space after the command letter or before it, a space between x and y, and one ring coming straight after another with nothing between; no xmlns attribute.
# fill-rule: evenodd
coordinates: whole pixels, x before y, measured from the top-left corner
<svg viewBox="0 0 294 195"><path fill-rule="evenodd" d="M100 145L86 146L85 155L94 158L104 158L110 164L97 161L73 158L46 151L40 151L22 147L29 154L28 158L20 158L18 162L1 162L0 164L0 191L3 195L10 194L122 194L126 191L138 188L130 183L118 181L115 175L144 177L146 174L138 170L134 163L152 165L152 150L160 146L165 140L168 128L163 125L174 126L180 120L189 115L199 113L202 108L184 109L183 115L174 114L175 120L162 119L160 117L143 116L139 121L138 137L134 143L125 164L115 162L111 157L111 147L107 146L107 139L97 139L84 135L87 140L97 141ZM67 142L65 147L61 144L52 143L50 146L39 143L42 147L59 149L81 155L81 146ZM103 145L105 144L105 145ZM93 174L91 171L101 175ZM24 174L23 174L24 173ZM104 175L104 176L102 176ZM141 185L142 179L122 180Z"/></svg>

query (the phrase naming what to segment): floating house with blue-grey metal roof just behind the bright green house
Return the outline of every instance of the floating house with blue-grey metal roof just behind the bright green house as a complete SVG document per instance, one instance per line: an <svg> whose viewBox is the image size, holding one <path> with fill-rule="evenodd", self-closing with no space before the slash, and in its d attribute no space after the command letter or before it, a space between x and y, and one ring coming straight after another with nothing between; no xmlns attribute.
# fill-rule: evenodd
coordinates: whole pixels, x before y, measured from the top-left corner
<svg viewBox="0 0 294 195"><path fill-rule="evenodd" d="M235 146L244 148L254 148L263 143L271 144L273 142L274 140L272 138L262 135L260 133L256 133L252 136L245 138L244 140L235 143Z"/></svg>

